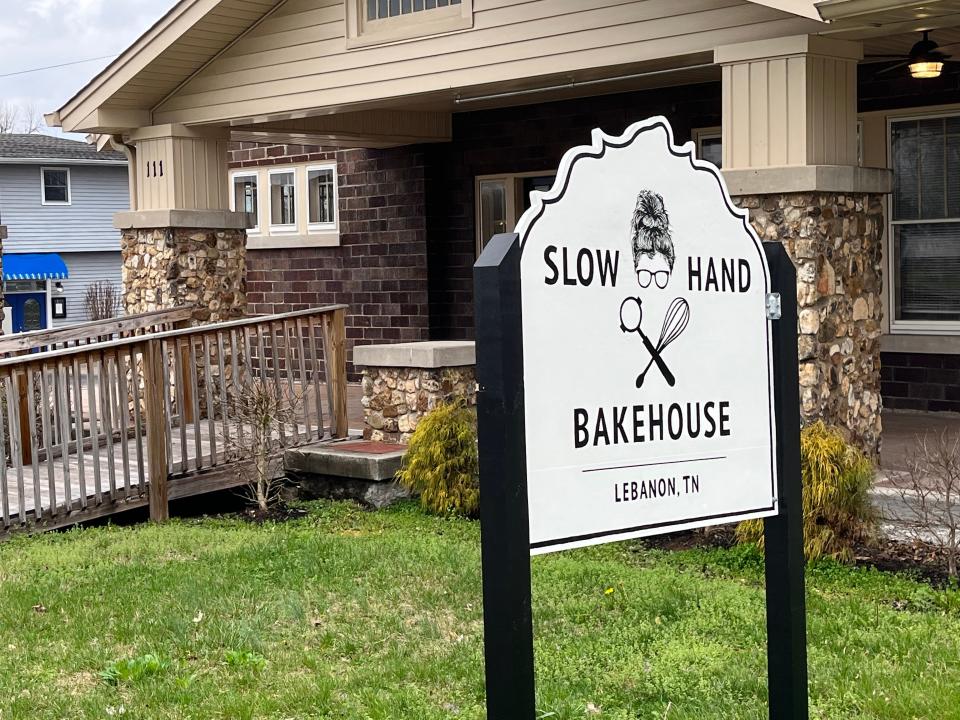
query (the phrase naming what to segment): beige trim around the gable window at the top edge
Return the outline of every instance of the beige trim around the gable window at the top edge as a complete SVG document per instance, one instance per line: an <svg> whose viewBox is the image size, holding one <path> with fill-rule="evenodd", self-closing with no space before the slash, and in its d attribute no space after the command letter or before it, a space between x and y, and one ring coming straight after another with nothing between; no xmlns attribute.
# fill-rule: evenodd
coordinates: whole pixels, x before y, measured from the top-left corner
<svg viewBox="0 0 960 720"><path fill-rule="evenodd" d="M473 0L380 20L367 20L366 0L345 0L347 48L415 40L473 27Z"/></svg>

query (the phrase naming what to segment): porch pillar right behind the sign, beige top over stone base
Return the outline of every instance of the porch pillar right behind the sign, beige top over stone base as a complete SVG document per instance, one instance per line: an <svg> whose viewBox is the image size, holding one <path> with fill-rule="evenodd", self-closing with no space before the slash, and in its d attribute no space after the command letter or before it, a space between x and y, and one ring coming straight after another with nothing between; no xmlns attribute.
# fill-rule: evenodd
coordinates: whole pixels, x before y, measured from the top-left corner
<svg viewBox="0 0 960 720"><path fill-rule="evenodd" d="M724 176L765 242L797 267L804 423L881 440L886 169L858 167L856 43L817 36L718 48Z"/></svg>

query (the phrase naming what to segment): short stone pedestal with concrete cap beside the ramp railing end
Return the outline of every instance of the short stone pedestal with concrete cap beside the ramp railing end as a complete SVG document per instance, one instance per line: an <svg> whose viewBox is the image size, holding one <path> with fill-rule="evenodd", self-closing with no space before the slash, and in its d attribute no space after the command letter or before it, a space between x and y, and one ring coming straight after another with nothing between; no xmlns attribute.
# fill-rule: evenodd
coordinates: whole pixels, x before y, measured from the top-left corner
<svg viewBox="0 0 960 720"><path fill-rule="evenodd" d="M438 403L462 399L470 407L477 404L472 342L361 345L354 348L353 362L363 368L366 440L406 443Z"/></svg>

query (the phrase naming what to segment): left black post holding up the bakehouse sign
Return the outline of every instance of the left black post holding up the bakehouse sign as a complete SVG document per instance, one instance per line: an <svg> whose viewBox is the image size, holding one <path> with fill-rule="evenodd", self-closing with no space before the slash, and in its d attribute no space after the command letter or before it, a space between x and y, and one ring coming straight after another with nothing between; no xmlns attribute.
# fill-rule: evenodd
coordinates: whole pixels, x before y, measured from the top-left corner
<svg viewBox="0 0 960 720"><path fill-rule="evenodd" d="M519 235L495 236L473 278L487 718L533 720Z"/></svg>

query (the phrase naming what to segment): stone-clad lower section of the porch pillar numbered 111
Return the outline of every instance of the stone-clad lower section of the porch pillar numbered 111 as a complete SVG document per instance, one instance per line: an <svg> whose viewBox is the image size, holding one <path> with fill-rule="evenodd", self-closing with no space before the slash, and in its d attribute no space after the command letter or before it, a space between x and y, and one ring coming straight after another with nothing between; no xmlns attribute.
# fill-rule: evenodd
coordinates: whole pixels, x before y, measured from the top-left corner
<svg viewBox="0 0 960 720"><path fill-rule="evenodd" d="M194 320L221 322L247 311L246 231L124 230L124 305L142 313L184 305Z"/></svg>

